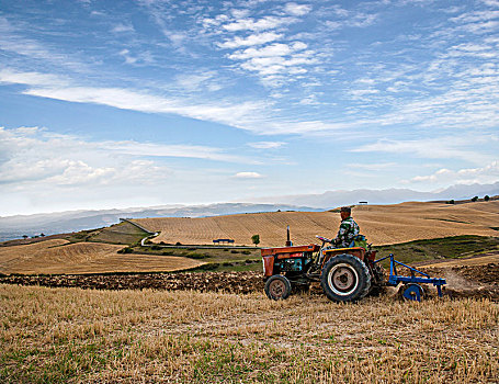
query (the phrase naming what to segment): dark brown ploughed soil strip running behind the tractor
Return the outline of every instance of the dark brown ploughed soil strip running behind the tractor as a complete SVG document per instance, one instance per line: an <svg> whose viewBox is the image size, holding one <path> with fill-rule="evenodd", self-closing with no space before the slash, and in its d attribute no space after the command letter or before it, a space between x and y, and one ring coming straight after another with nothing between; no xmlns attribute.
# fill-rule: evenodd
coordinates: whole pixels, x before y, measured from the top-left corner
<svg viewBox="0 0 499 384"><path fill-rule="evenodd" d="M499 301L499 263L453 268L426 268L432 276L447 280L445 295L451 297L488 297ZM195 290L200 292L251 293L263 290L260 272L147 273L107 275L9 275L0 283L43 286L78 286L98 290ZM430 295L435 292L428 286ZM389 292L393 292L389 291ZM321 294L315 284L311 294Z"/></svg>

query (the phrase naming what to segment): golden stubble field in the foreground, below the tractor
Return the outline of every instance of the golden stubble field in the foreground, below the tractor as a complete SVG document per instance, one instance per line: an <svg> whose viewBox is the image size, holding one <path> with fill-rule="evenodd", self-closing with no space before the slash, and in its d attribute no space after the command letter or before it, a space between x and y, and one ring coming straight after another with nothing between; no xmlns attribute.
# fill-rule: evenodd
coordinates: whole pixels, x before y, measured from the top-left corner
<svg viewBox="0 0 499 384"><path fill-rule="evenodd" d="M0 285L0 381L494 383L499 304Z"/></svg>

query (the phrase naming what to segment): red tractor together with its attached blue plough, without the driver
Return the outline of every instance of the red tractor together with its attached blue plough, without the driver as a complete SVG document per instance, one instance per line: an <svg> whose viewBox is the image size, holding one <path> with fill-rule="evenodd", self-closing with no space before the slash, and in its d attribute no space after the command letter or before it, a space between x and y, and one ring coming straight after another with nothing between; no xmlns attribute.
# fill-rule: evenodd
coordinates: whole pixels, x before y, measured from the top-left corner
<svg viewBox="0 0 499 384"><path fill-rule="evenodd" d="M311 282L320 282L322 291L333 302L356 302L368 294L375 295L384 286L398 286L404 300L418 301L426 296L421 284L433 284L442 297L445 279L431 278L416 268L395 260L393 253L375 260L376 251L364 236L355 239L358 247L327 247L332 240L316 236L321 246L293 246L287 227L285 247L262 248L265 294L272 300L287 298L293 291L308 290ZM389 259L389 275L381 266ZM397 266L408 270L409 275L399 274Z"/></svg>

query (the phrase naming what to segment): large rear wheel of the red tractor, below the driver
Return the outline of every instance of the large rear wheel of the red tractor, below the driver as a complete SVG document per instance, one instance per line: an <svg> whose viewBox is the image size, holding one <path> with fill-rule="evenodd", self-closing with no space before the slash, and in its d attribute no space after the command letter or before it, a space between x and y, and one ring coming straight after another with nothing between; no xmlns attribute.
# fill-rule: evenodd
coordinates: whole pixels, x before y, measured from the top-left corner
<svg viewBox="0 0 499 384"><path fill-rule="evenodd" d="M320 285L333 302L355 302L371 289L371 275L365 263L352 255L338 255L322 268Z"/></svg>

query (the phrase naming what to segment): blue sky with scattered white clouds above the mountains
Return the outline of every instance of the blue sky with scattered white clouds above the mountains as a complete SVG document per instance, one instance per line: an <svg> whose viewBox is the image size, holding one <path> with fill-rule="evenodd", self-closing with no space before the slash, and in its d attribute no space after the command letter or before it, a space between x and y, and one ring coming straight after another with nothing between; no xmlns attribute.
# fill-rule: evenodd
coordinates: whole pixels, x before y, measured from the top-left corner
<svg viewBox="0 0 499 384"><path fill-rule="evenodd" d="M499 0L0 1L0 216L499 180Z"/></svg>

